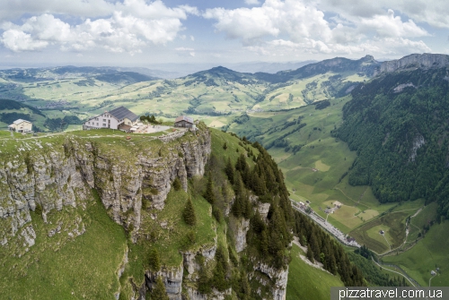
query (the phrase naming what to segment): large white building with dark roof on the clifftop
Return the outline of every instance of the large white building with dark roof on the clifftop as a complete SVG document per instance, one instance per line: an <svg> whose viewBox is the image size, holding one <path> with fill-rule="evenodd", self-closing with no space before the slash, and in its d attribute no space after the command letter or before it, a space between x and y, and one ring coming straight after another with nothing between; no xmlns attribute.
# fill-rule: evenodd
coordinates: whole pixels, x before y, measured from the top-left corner
<svg viewBox="0 0 449 300"><path fill-rule="evenodd" d="M130 128L136 124L139 117L127 107L117 107L110 111L105 111L99 116L93 116L83 124L84 130L110 128L121 129Z"/></svg>

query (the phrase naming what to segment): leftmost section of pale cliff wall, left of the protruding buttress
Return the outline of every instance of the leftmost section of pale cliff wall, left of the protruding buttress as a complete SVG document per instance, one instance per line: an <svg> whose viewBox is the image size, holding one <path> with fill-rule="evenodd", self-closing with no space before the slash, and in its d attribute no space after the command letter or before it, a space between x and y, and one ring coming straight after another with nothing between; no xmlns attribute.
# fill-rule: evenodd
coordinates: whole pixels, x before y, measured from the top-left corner
<svg viewBox="0 0 449 300"><path fill-rule="evenodd" d="M83 205L87 192L75 159L66 158L64 152L26 152L16 159L4 159L0 162L0 219L4 225L0 240L16 236L30 223L31 210L39 208L46 221L50 210ZM32 236L30 232L27 229L19 236Z"/></svg>

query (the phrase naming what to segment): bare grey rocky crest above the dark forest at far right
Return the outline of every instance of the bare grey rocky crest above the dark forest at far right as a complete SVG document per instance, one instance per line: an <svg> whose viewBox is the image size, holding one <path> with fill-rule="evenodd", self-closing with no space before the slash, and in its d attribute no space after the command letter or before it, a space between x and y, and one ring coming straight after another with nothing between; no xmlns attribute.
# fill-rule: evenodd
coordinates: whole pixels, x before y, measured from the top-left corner
<svg viewBox="0 0 449 300"><path fill-rule="evenodd" d="M449 65L449 56L442 54L412 54L388 62L383 62L375 71L374 76L409 68L441 68Z"/></svg>

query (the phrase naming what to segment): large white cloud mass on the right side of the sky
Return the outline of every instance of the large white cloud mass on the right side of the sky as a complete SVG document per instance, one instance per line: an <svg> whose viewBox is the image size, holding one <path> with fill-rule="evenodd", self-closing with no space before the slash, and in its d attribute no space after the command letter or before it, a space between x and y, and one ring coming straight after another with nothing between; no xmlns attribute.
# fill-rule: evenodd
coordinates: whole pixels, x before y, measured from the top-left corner
<svg viewBox="0 0 449 300"><path fill-rule="evenodd" d="M402 21L392 10L385 12L372 6L364 16L347 13L336 15L329 22L317 6L306 1L266 0L260 7L208 9L203 16L216 20L216 30L224 32L226 38L240 39L246 49L260 55L363 55L365 51L402 52L404 47L409 47L407 53L412 49L430 50L423 41L411 40L428 36L427 30L413 20ZM392 50L383 51L387 44L382 43L392 44Z"/></svg>

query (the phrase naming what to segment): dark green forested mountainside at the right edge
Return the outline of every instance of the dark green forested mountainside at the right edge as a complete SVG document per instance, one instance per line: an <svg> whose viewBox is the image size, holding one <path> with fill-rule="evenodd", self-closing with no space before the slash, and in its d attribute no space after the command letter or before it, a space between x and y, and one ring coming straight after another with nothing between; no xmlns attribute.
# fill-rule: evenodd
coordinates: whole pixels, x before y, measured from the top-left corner
<svg viewBox="0 0 449 300"><path fill-rule="evenodd" d="M352 91L334 133L357 150L350 184L370 184L382 202L439 200L449 217L447 74L446 68L388 73Z"/></svg>

